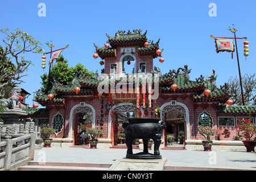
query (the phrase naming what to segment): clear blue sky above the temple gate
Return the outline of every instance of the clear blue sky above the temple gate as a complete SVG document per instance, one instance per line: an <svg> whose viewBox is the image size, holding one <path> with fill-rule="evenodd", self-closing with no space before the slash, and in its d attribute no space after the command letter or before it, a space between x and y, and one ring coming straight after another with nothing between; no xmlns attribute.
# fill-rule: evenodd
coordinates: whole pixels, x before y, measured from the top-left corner
<svg viewBox="0 0 256 182"><path fill-rule="evenodd" d="M38 16L39 3L45 3L46 16ZM210 3L215 3L217 16L210 17ZM217 86L228 82L230 77L238 77L236 52L234 59L231 53L216 53L214 40L216 37L232 37L228 26L237 28L237 37L247 37L250 56L243 56L243 40L237 40L242 76L253 75L256 67L255 18L256 1L20 1L0 0L0 28L19 28L32 35L43 44L52 40L56 49L69 47L63 51L69 66L77 63L85 65L89 71L102 69L100 59L94 60L93 43L103 47L108 40L106 33L114 36L118 30L147 30L148 40L156 42L164 49L162 56L154 59L154 65L160 67L162 73L188 65L192 69L190 79L203 75L205 77L216 71ZM0 34L0 39L3 35ZM0 43L1 45L1 43ZM31 93L26 102L32 107L33 92L40 89L40 75L46 69L41 68L42 56L28 53L26 58L31 65L24 77L26 83L19 85ZM47 57L49 59L49 56Z"/></svg>

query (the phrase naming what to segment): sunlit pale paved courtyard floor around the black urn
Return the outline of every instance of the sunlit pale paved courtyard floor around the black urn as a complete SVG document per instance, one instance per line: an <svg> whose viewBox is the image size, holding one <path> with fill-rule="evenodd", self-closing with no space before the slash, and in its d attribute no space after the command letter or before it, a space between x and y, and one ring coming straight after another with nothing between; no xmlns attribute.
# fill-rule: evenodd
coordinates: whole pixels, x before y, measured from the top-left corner
<svg viewBox="0 0 256 182"><path fill-rule="evenodd" d="M133 152L141 152L134 149ZM150 153L153 153L151 150ZM167 159L166 166L236 168L256 170L256 153L243 151L188 151L160 150ZM90 149L76 147L51 147L35 150L34 161L43 162L77 162L77 163L110 163L126 157L126 149L107 148Z"/></svg>

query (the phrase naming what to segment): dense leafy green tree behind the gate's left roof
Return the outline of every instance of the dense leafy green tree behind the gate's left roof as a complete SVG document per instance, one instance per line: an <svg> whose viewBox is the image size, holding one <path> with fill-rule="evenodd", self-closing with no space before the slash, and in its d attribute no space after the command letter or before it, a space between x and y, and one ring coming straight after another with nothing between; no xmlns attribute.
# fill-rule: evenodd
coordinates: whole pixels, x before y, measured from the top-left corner
<svg viewBox="0 0 256 182"><path fill-rule="evenodd" d="M68 60L64 59L63 55L60 55L59 59L56 60L56 64L53 65L50 71L50 81L53 82L53 78L63 85L68 85L72 82L74 76L79 77L80 75L88 75L88 77L94 77L93 71L89 72L81 63L76 64L73 68L68 67ZM48 74L44 73L42 76L41 90L43 93L47 93ZM52 84L49 85L49 90L52 89Z"/></svg>

